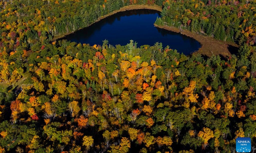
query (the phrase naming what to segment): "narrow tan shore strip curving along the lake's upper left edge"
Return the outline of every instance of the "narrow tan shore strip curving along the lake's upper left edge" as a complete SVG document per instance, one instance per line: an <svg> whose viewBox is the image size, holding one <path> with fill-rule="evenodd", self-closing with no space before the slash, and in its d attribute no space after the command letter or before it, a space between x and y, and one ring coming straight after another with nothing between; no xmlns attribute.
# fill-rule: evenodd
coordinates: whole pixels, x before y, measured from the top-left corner
<svg viewBox="0 0 256 153"><path fill-rule="evenodd" d="M91 26L91 25L93 25L94 23L97 23L97 22L99 22L100 20L102 20L102 19L104 19L104 18L108 18L109 16L114 15L114 14L116 14L116 13L118 13L118 12L124 12L124 11L130 11L130 10L140 10L140 9L156 10L156 11L160 11L160 12L162 11L162 7L160 7L160 6L158 6L158 5L128 5L128 6L122 7L122 8L119 9L119 10L113 11L113 12L111 12L111 13L109 13L109 14L106 14L106 15L104 15L104 16L98 18L95 22L93 22L92 24L90 24L90 25L88 25L88 26ZM87 27L88 27L88 26L87 26ZM79 28L78 30L80 30L80 29L83 29L83 28ZM78 30L76 30L76 31L78 31ZM62 38L62 37L65 37L66 35L71 34L71 33L74 33L74 32L75 32L75 31L69 32L69 33L65 33L65 34L62 34L62 35L58 35L58 36L54 36L54 37L53 37L53 41L54 41L54 40L57 40L57 39L60 39L60 38Z"/></svg>

